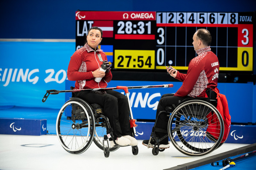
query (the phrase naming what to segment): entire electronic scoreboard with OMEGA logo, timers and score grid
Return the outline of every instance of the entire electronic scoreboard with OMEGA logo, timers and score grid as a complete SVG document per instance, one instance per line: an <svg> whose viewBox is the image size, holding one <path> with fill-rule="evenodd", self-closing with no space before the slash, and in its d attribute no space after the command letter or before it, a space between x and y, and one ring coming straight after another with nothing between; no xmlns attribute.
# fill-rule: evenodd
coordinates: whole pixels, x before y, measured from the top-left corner
<svg viewBox="0 0 256 170"><path fill-rule="evenodd" d="M76 50L90 27L103 31L102 49L115 69L187 70L193 35L205 28L220 70L253 71L254 12L76 12Z"/></svg>

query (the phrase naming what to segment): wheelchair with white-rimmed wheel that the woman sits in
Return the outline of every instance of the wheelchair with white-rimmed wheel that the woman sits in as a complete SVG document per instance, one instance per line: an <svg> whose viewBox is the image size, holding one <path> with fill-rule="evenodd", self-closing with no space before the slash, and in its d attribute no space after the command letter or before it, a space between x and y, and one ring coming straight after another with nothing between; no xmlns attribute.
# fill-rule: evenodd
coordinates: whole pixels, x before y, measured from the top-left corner
<svg viewBox="0 0 256 170"><path fill-rule="evenodd" d="M130 124L131 128L133 127L134 137L136 125L131 115ZM103 108L99 104L89 104L81 98L74 97L73 92L70 100L63 104L58 113L56 133L61 146L72 154L83 153L92 142L104 151L106 158L109 157L110 152L123 147L115 140L113 140L115 145L110 146L108 138L114 139L113 129L110 127L108 118L104 116ZM138 146L132 146L132 154L138 154Z"/></svg>

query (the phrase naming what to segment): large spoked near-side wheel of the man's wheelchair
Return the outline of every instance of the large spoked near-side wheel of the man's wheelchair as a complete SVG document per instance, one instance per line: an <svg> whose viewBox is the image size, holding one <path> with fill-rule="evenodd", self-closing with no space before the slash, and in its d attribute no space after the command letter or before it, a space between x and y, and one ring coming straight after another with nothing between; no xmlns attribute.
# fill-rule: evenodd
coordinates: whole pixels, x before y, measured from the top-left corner
<svg viewBox="0 0 256 170"><path fill-rule="evenodd" d="M214 151L220 145L223 133L224 122L220 112L202 100L180 104L168 122L172 144L188 156L203 156Z"/></svg>

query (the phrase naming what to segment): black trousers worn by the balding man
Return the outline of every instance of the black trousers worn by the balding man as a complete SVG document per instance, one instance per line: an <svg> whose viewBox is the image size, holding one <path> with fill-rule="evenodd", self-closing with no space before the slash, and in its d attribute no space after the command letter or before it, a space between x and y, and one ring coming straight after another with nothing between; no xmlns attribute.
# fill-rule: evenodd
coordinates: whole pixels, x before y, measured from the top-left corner
<svg viewBox="0 0 256 170"><path fill-rule="evenodd" d="M174 94L164 94L161 99L159 100L159 103L157 105L157 110L156 110L156 117L159 114L159 112L164 111L166 106L172 106L172 104L177 105L179 104L182 100L186 99L186 98L193 98L193 97L177 97L177 96L173 96ZM163 129L163 131L166 132L157 132L156 131L156 137L163 137L164 135L168 134L167 132L167 128L168 128L168 121L169 118L167 115L169 115L168 113L162 112L161 114L159 114L158 116L158 120L155 122L156 124L156 128L160 128ZM168 144L168 137L164 138L163 141L161 141L161 143L163 144Z"/></svg>

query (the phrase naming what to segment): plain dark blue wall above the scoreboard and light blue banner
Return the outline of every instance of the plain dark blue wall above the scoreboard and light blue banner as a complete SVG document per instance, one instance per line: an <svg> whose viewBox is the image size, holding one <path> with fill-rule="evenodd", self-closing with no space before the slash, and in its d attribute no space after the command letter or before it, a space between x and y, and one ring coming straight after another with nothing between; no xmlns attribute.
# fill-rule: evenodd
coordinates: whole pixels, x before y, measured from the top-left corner
<svg viewBox="0 0 256 170"><path fill-rule="evenodd" d="M0 1L0 38L75 39L75 12L253 12L255 0Z"/></svg>

